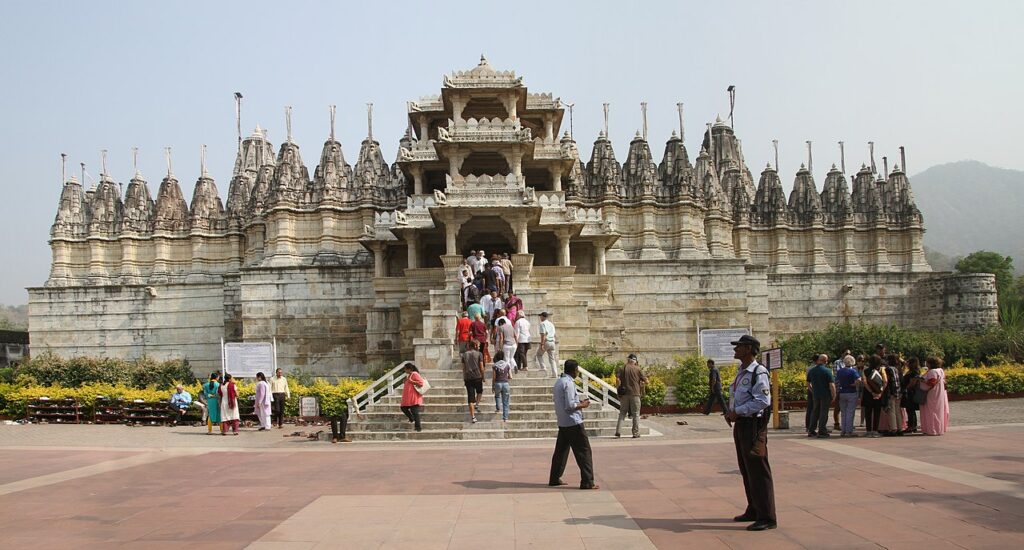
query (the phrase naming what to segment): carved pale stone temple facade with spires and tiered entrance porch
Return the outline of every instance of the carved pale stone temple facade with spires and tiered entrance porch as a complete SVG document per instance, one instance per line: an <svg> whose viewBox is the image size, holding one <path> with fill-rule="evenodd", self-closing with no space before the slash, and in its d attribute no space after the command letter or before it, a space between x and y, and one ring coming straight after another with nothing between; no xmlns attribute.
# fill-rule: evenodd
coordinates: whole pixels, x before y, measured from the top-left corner
<svg viewBox="0 0 1024 550"><path fill-rule="evenodd" d="M563 354L642 350L670 361L697 328L763 341L831 321L972 328L995 321L989 277L933 273L900 167L806 167L786 196L755 184L717 121L695 159L675 133L662 160L637 133L625 162L601 133L584 163L558 138L562 103L481 58L409 103L393 164L368 137L349 165L325 141L312 177L289 137L242 140L222 203L201 174L190 203L168 173L136 173L122 200L103 174L63 184L45 286L30 289L34 346L61 354L184 356L219 367L219 343L275 338L281 364L365 374L451 361L455 270L470 249L513 253L529 313L552 311Z"/></svg>

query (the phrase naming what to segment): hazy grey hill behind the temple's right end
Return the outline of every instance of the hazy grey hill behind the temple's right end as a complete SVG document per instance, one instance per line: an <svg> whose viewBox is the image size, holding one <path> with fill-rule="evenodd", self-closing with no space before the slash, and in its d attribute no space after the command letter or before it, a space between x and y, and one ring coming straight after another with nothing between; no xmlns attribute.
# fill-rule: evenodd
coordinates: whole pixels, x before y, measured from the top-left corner
<svg viewBox="0 0 1024 550"><path fill-rule="evenodd" d="M930 260L936 253L990 250L1013 257L1018 272L1024 269L1024 172L961 161L933 166L910 184L925 216Z"/></svg>

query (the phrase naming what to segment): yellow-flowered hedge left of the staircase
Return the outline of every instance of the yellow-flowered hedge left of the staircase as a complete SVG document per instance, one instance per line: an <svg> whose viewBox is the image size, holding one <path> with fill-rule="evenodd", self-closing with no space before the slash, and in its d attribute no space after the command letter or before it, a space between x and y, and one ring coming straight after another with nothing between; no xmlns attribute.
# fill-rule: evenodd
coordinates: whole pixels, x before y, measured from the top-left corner
<svg viewBox="0 0 1024 550"><path fill-rule="evenodd" d="M252 381L240 380L237 385L242 399L251 397L256 391L256 384ZM298 416L299 397L313 396L319 401L321 415L341 416L347 410L348 398L362 391L370 385L370 381L343 378L332 384L317 379L306 386L289 380L288 385L292 396L285 401L286 415ZM83 407L83 413L88 417L92 415L93 405L98 396L125 400L168 401L174 392L174 386L175 384L171 383L164 386L164 389L157 389L157 386L139 389L124 384L108 383L87 383L78 387L65 387L60 384L43 386L17 382L0 383L0 414L22 418L29 401L45 396L51 399L73 398ZM185 384L185 389L191 393L193 398L196 398L200 393L200 384L199 382Z"/></svg>

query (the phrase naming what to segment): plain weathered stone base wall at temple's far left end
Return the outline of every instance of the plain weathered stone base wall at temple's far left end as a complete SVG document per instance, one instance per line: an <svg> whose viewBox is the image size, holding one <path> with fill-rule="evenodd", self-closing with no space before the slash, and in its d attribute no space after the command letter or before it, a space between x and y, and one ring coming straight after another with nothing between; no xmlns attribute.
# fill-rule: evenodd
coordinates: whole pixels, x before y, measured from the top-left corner
<svg viewBox="0 0 1024 550"><path fill-rule="evenodd" d="M29 295L33 346L40 350L187 358L197 373L220 369L223 284L37 288Z"/></svg>

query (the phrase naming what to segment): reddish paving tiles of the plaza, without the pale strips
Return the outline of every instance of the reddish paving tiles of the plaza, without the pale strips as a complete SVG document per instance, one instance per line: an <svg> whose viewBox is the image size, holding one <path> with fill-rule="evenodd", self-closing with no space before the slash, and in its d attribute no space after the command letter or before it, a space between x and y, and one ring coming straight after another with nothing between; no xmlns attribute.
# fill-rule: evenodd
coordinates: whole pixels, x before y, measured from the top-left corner
<svg viewBox="0 0 1024 550"><path fill-rule="evenodd" d="M1024 456L1022 433L979 429L835 445L1007 478L1024 476L1016 458ZM767 533L731 521L744 501L729 443L596 445L595 469L603 491L659 548L1024 544L1020 499L794 440L770 446L780 527ZM10 482L128 455L8 450L0 451L0 465ZM0 546L240 548L322 495L572 491L545 485L550 457L540 447L180 456L2 496ZM579 481L571 461L564 478L569 488Z"/></svg>

